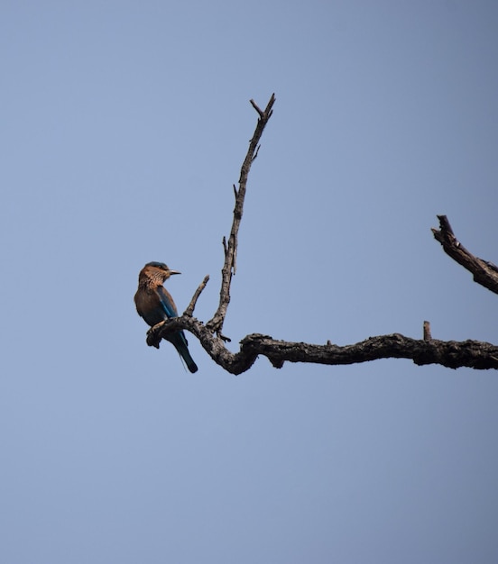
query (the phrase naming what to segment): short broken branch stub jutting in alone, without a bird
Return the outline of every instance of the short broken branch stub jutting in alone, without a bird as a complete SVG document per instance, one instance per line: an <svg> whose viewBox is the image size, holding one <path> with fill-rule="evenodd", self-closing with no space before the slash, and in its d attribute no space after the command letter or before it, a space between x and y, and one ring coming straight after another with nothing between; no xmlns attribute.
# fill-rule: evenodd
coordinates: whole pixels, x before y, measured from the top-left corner
<svg viewBox="0 0 498 564"><path fill-rule="evenodd" d="M457 241L446 215L438 215L440 229L432 228L434 238L441 243L444 251L458 264L474 275L474 281L498 294L498 267L493 262L479 259Z"/></svg>

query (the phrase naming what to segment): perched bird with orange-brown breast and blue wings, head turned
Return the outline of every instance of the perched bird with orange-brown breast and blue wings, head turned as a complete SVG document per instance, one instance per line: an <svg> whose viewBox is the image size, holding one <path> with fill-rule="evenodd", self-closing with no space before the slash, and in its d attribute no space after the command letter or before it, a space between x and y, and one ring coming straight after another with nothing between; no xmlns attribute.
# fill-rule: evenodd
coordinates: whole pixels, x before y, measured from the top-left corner
<svg viewBox="0 0 498 564"><path fill-rule="evenodd" d="M138 275L138 290L134 295L136 311L151 327L170 317L178 317L170 292L162 286L173 274L181 273L178 270L171 270L163 262L148 262ZM173 332L166 339L178 350L190 372L197 372L197 364L190 356L185 333Z"/></svg>

